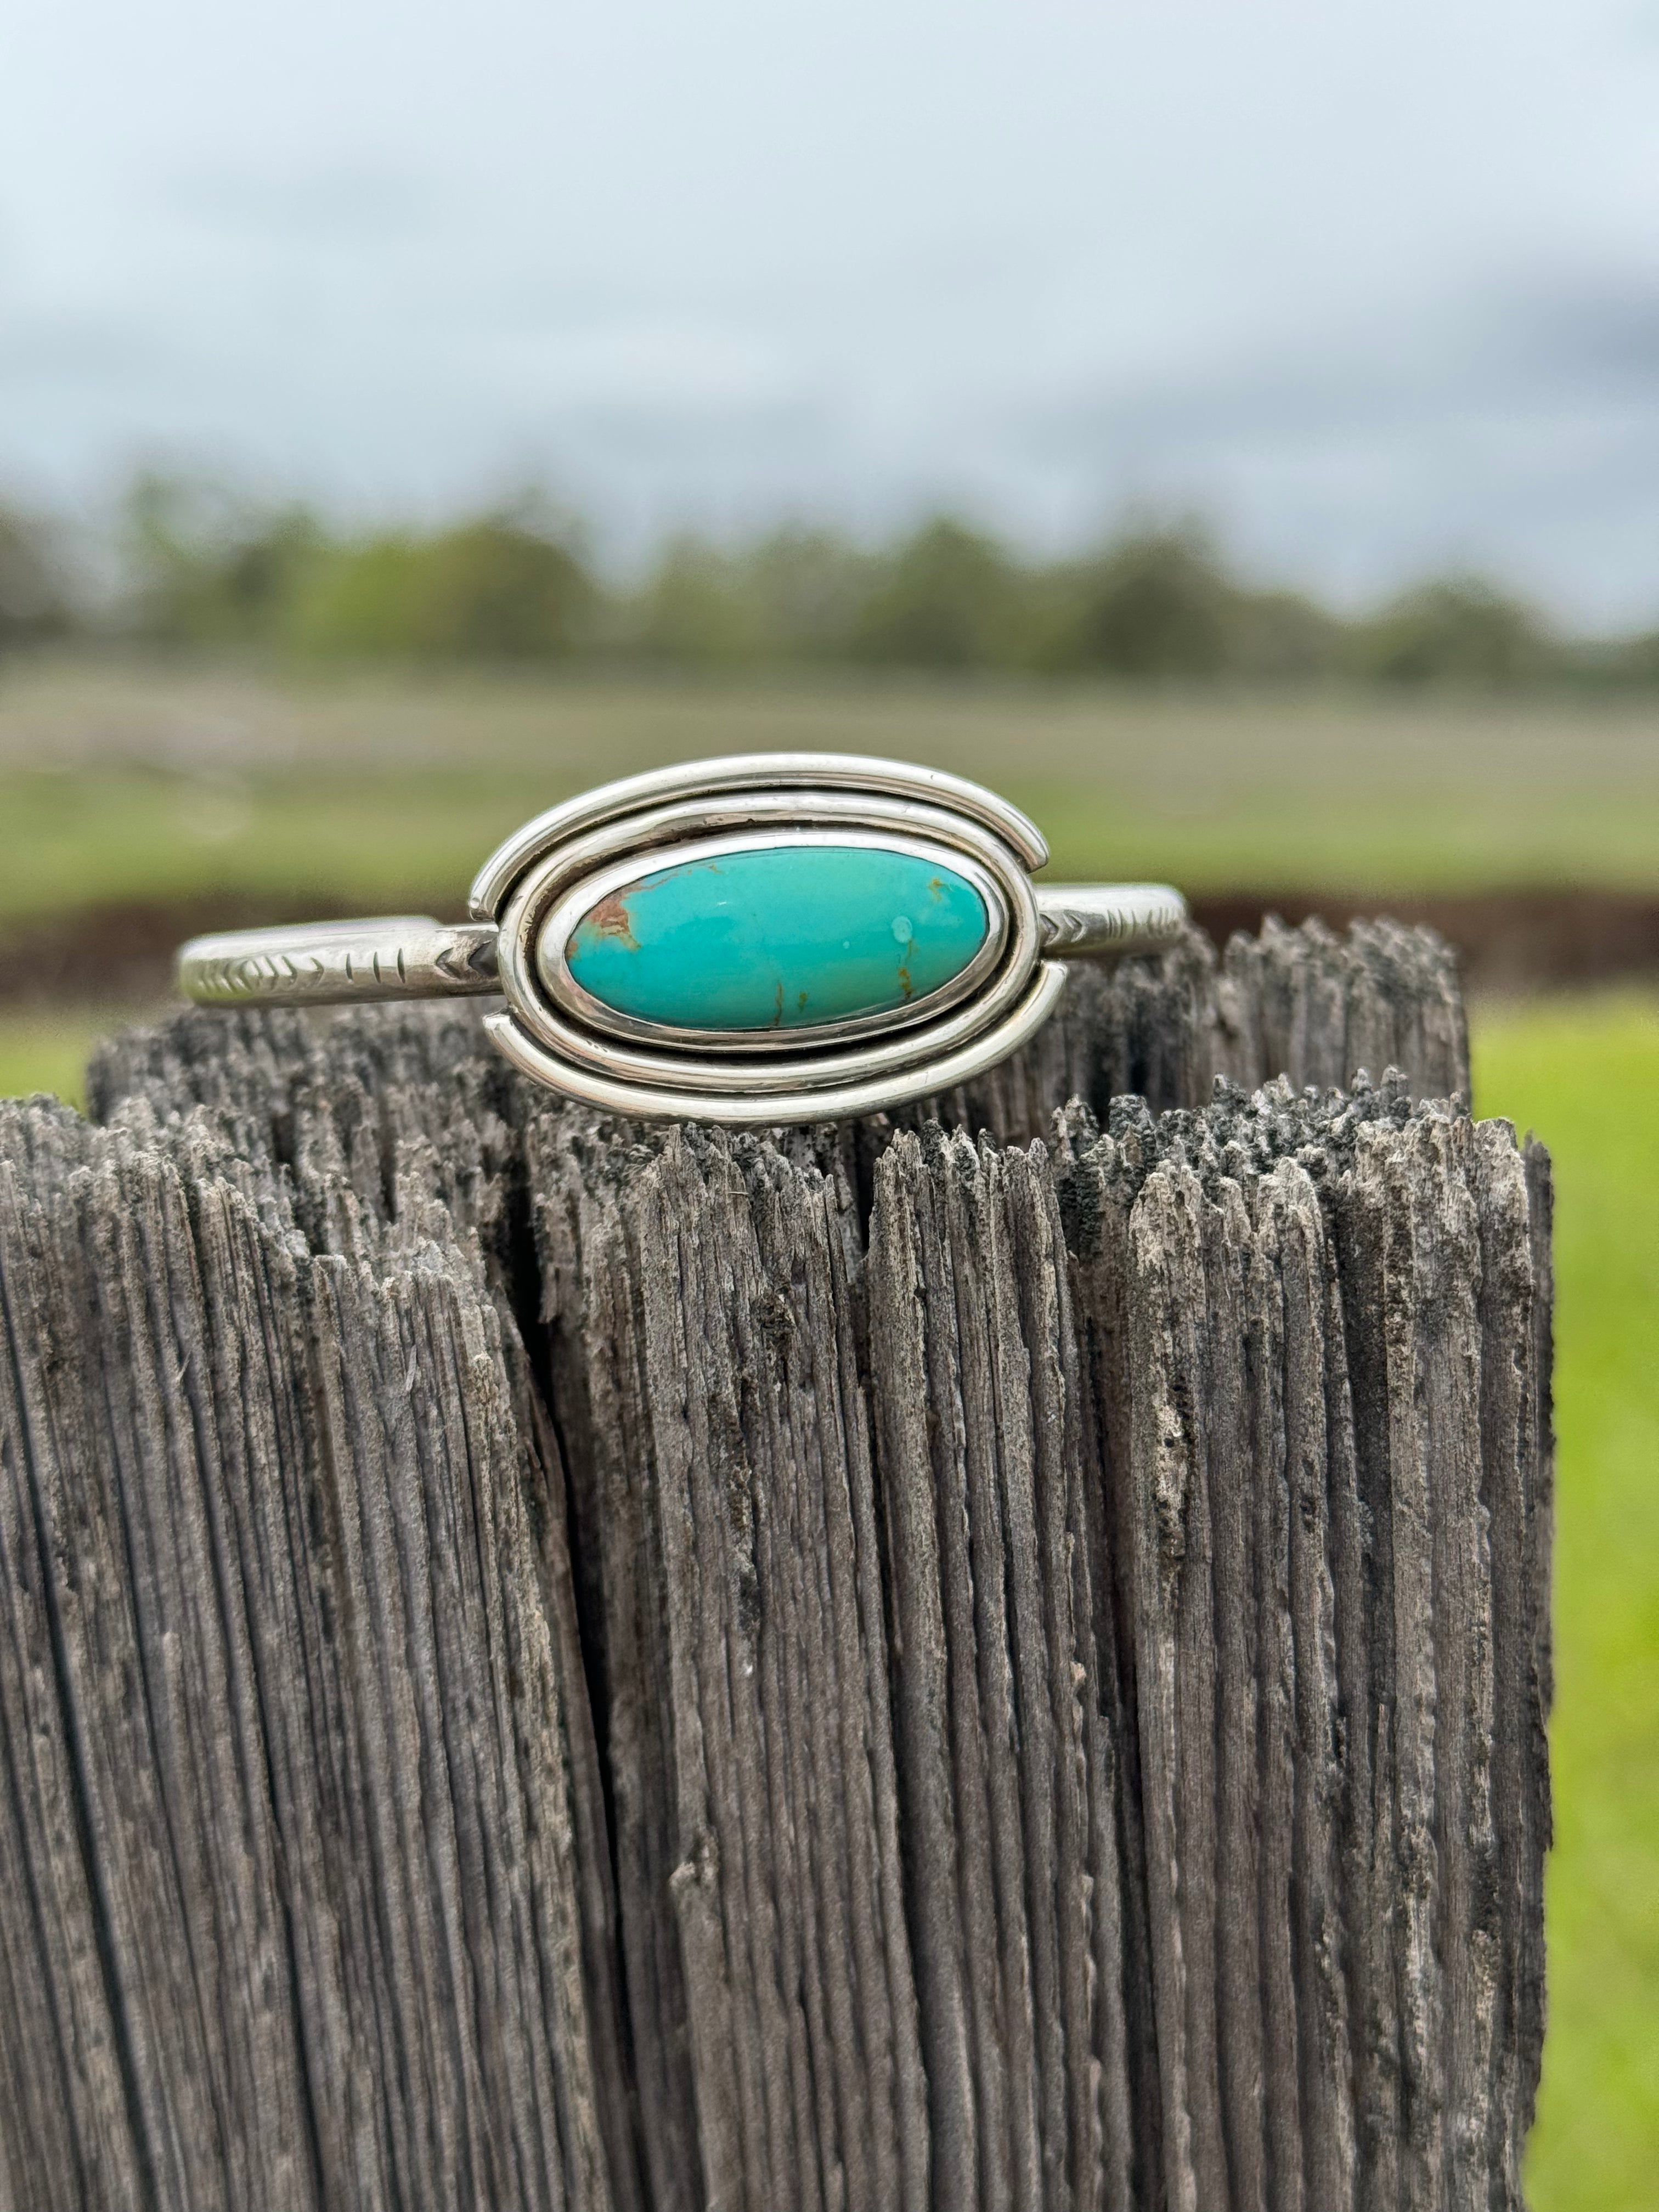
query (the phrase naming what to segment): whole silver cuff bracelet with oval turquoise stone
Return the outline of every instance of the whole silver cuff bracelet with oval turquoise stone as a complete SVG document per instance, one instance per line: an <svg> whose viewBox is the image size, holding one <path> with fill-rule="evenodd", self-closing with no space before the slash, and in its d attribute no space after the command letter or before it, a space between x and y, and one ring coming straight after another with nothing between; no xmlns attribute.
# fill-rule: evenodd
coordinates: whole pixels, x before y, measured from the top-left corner
<svg viewBox="0 0 1659 2212"><path fill-rule="evenodd" d="M757 752L606 783L518 830L471 922L192 938L206 1006L500 995L484 1029L551 1091L637 1117L836 1121L995 1066L1066 960L1170 945L1161 883L1033 883L1048 847L933 768Z"/></svg>

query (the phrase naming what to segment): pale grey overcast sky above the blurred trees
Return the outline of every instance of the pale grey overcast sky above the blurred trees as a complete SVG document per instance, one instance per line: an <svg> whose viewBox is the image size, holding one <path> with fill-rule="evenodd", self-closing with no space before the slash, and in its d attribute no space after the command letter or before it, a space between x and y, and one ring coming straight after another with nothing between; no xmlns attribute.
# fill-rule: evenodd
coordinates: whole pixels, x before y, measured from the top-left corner
<svg viewBox="0 0 1659 2212"><path fill-rule="evenodd" d="M1659 619L1659 0L7 0L0 489L1201 511Z"/></svg>

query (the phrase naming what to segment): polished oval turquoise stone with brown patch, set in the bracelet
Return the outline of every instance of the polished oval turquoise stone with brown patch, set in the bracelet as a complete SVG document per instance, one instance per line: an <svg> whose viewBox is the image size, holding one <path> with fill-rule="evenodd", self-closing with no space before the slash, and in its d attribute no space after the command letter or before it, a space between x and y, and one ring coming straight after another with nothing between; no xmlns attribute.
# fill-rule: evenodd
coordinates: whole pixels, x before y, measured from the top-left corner
<svg viewBox="0 0 1659 2212"><path fill-rule="evenodd" d="M973 960L991 918L956 869L876 845L770 845L655 869L564 949L615 1013L675 1029L814 1029L898 1013Z"/></svg>

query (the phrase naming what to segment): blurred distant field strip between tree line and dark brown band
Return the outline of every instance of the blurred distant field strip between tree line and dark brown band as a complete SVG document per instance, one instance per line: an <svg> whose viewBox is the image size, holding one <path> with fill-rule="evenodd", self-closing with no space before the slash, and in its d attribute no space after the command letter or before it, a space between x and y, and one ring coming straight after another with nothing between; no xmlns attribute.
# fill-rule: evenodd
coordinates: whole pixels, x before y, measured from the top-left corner
<svg viewBox="0 0 1659 2212"><path fill-rule="evenodd" d="M0 918L248 889L460 911L588 783L757 748L982 776L1062 876L1188 889L1659 883L1644 703L1214 697L940 681L509 677L276 686L31 664L0 681Z"/></svg>

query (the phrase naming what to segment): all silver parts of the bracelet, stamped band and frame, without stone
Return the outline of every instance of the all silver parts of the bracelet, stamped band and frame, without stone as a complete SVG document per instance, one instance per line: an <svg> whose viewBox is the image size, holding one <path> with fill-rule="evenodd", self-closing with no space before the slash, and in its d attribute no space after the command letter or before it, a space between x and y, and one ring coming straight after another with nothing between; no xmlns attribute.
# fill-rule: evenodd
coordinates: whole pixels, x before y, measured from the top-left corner
<svg viewBox="0 0 1659 2212"><path fill-rule="evenodd" d="M973 883L991 927L960 975L905 1006L796 1031L641 1022L571 975L575 922L641 876L721 852L847 843ZM1179 891L1033 885L1046 856L1024 814L940 770L739 754L628 776L540 814L484 863L473 922L394 916L195 938L179 953L179 984L221 1006L500 993L504 1011L484 1026L504 1057L591 1106L732 1126L841 1119L995 1066L1053 1011L1062 960L1155 951L1179 936Z"/></svg>

